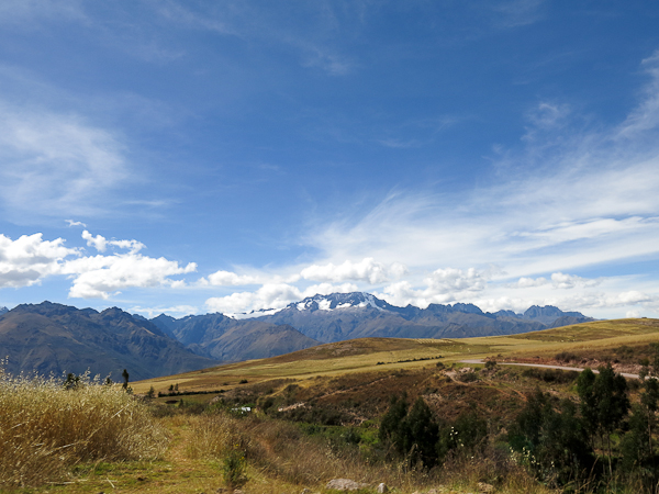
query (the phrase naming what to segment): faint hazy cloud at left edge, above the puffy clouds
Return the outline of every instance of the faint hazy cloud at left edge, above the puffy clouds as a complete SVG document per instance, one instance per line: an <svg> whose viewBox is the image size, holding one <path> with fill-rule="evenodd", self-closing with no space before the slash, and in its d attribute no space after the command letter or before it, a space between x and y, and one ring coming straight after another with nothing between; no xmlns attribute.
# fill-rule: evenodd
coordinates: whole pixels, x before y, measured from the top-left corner
<svg viewBox="0 0 659 494"><path fill-rule="evenodd" d="M13 213L98 213L127 178L123 146L110 132L75 115L1 102L0 112L0 202Z"/></svg>

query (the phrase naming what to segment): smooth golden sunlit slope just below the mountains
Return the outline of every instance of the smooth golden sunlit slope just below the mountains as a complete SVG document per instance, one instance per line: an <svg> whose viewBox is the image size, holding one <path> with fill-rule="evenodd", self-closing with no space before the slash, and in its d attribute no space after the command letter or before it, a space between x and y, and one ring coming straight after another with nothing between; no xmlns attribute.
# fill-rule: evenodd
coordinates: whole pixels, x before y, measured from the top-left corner
<svg viewBox="0 0 659 494"><path fill-rule="evenodd" d="M348 372L445 364L468 358L552 357L561 351L593 352L623 345L659 341L659 319L616 319L583 323L512 336L463 339L364 338L321 345L260 360L220 366L202 371L152 379L134 384L136 392L149 386L166 391L230 389L242 380L306 379Z"/></svg>

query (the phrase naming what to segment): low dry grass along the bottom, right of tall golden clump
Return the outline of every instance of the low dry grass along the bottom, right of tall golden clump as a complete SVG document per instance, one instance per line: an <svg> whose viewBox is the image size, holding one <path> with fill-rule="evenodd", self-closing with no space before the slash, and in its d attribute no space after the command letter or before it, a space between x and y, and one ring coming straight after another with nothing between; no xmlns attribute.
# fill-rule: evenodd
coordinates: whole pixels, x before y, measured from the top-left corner
<svg viewBox="0 0 659 494"><path fill-rule="evenodd" d="M442 471L410 470L402 463L369 463L357 449L337 450L320 438L308 437L294 425L258 418L237 419L227 414L179 415L160 419L172 437L156 461L87 462L77 465L66 482L51 483L24 493L214 493L225 489L223 458L238 449L245 454L243 492L299 493L303 489L328 493L326 482L349 478L370 487L380 482L393 492L474 492L478 482L498 482L500 493L548 494L507 457L456 459ZM501 480L502 479L502 480ZM14 491L15 492L15 491ZM230 491L231 492L231 491Z"/></svg>

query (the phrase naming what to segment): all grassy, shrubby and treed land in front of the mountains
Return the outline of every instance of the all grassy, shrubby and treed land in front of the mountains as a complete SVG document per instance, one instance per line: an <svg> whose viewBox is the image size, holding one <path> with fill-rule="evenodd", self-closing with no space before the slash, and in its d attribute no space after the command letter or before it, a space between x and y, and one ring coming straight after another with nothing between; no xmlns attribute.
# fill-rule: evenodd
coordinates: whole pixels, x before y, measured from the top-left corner
<svg viewBox="0 0 659 494"><path fill-rule="evenodd" d="M87 375L3 375L0 490L266 494L349 478L372 486L364 492L384 482L403 494L479 483L511 494L656 494L659 329L593 324L560 343L563 328L332 344L131 383L133 395ZM572 367L602 362L599 373L506 366L560 353ZM626 381L616 359L649 379Z"/></svg>

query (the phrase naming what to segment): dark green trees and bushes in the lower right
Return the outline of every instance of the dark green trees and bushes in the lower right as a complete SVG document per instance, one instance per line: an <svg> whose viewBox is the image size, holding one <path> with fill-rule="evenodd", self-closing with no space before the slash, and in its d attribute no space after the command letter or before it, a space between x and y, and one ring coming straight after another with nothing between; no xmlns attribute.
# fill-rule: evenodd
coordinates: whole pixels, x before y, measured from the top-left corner
<svg viewBox="0 0 659 494"><path fill-rule="evenodd" d="M585 369L576 396L558 400L537 389L522 411L494 431L473 411L455 420L436 417L423 397L412 406L392 397L380 423L380 440L410 465L433 469L448 457L507 448L538 481L565 492L615 492L636 485L659 494L657 448L659 346L641 370L639 400L611 364Z"/></svg>

